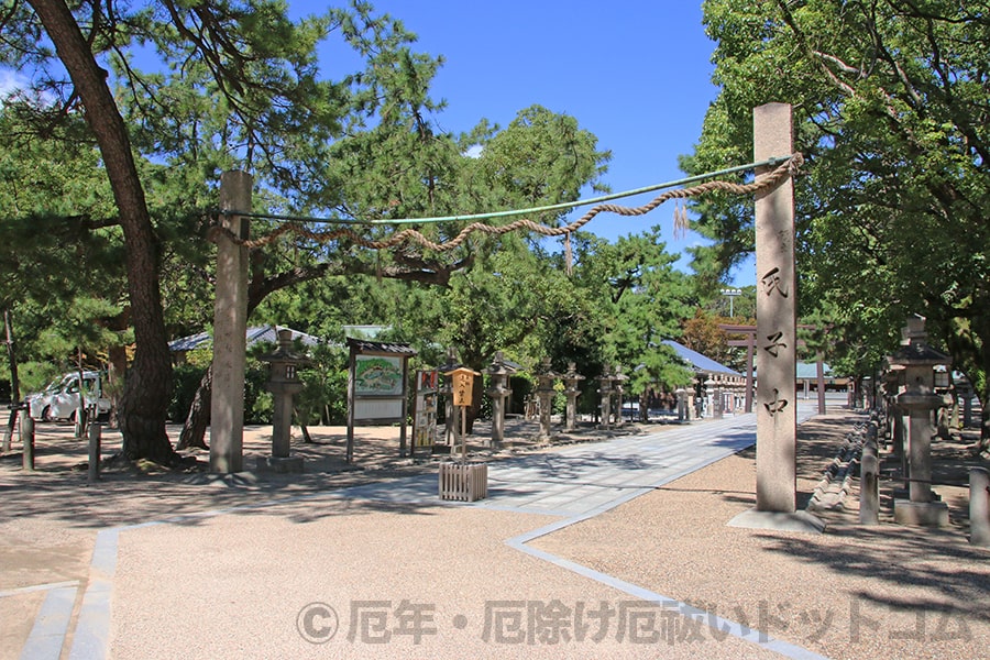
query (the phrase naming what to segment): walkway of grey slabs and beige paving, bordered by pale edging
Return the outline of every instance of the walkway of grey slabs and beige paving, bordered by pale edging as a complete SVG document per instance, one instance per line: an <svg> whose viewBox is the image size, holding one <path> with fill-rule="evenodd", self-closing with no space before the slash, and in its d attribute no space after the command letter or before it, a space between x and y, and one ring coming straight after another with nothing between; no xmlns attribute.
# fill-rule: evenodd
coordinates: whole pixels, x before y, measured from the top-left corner
<svg viewBox="0 0 990 660"><path fill-rule="evenodd" d="M800 407L799 422L812 413ZM516 647L493 642L491 604L529 607L563 596L582 607L632 598L703 619L735 640L736 646L721 647L734 657L773 651L816 658L759 630L527 546L755 441L754 415L728 417L493 462L488 497L470 505L441 502L431 473L106 529L97 537L79 606L77 585L40 585L48 587L47 595L20 657L515 657L507 651ZM636 542L635 530L629 542ZM454 593L459 597L450 598ZM370 594L374 597L366 600ZM389 595L383 600L382 594ZM482 598L484 617L469 617L468 612L477 614ZM426 632L419 628L432 645L420 647L415 635L414 646L399 649L364 639L377 628L359 620L363 614L355 603L387 602L391 607L393 601L409 605L410 600L429 602L422 607L449 624L440 635L429 625ZM307 636L330 629L314 627L314 622L329 619L326 612L307 610L312 605L333 613L334 632L337 625L346 628L324 603L336 603L338 609L350 603L351 644L320 646L329 638ZM399 616L399 608L391 612ZM286 639L285 619L294 613L296 629ZM421 615L416 619L420 624ZM359 623L364 627L355 642ZM473 628L466 638L447 635L465 628ZM612 651L622 656L656 656L656 648L623 645L620 635L612 641L618 644ZM522 646L519 657L548 650ZM570 654L602 657L612 652L607 648L596 642Z"/></svg>

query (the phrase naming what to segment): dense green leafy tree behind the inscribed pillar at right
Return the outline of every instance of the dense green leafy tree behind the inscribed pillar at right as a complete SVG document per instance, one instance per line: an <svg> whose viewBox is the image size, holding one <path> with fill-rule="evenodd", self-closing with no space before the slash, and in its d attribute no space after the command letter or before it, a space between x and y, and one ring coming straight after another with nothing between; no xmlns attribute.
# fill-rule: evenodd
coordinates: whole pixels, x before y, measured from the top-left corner
<svg viewBox="0 0 990 660"><path fill-rule="evenodd" d="M685 165L745 162L751 109L792 103L806 160L796 182L802 305L827 305L837 330L870 340L895 337L909 314L925 316L986 407L985 13L947 0L707 0L722 91ZM723 266L751 249L749 201L715 198L698 210ZM982 438L986 449L990 418Z"/></svg>

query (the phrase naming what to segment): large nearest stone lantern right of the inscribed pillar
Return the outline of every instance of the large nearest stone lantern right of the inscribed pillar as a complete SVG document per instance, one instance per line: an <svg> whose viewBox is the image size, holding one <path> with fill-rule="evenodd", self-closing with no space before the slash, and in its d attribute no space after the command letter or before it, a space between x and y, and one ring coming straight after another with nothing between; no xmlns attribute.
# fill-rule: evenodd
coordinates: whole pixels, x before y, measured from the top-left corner
<svg viewBox="0 0 990 660"><path fill-rule="evenodd" d="M902 348L890 359L891 366L903 371L904 391L898 395L898 407L909 418L908 476L909 499L894 501L894 519L903 525L944 527L948 525L948 507L936 501L932 492L933 415L943 404L935 394L935 366L948 365L949 358L926 342L925 320L908 320Z"/></svg>

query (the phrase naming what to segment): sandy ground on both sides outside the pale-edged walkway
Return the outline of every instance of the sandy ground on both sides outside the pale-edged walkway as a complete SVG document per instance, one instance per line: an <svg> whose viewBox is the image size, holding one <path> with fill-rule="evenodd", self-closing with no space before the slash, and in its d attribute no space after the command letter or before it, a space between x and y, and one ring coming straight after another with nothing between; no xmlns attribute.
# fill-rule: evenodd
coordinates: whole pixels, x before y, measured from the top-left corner
<svg viewBox="0 0 990 660"><path fill-rule="evenodd" d="M864 421L861 413L834 410L800 427L799 507L807 503L854 426ZM548 447L535 440L534 422L514 419L503 450L484 447L484 426L469 444L472 455L498 460L662 430L659 424L610 432L586 428L559 436ZM193 450L187 453L199 466L187 472L153 465L112 469L88 483L87 443L73 438L72 427L38 425L35 472L21 469L16 442L11 453L0 457L0 592L63 581L86 584L96 532L107 527L288 502L432 471L435 462L446 458L422 452L399 457L398 428L363 427L355 429L355 460L349 464L345 429L309 431L311 443L304 442L298 429L294 436L293 453L306 461L301 475L213 475L204 468L208 452ZM178 428L169 428L169 433L176 438ZM880 526L858 524L854 480L843 507L816 514L828 524L824 535L728 527L728 520L755 502L755 452L749 449L531 544L833 658L985 657L990 648L990 550L967 541L968 470L988 466L968 451L976 433L967 429L933 446L935 490L950 513L947 529L893 524L893 499L903 483L895 479L897 461L891 458L883 465ZM105 430L102 455L119 449L119 435ZM270 451L270 427L245 429L245 468L252 469L256 458ZM0 649L21 648L31 613L43 597L42 592L0 597ZM722 650L727 647L697 649L718 657Z"/></svg>

